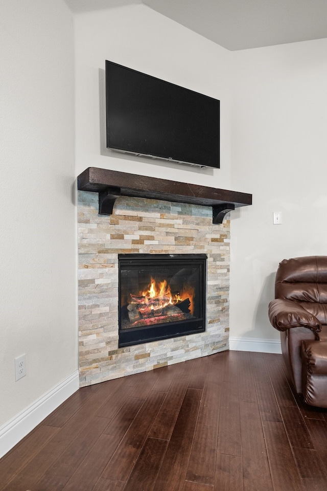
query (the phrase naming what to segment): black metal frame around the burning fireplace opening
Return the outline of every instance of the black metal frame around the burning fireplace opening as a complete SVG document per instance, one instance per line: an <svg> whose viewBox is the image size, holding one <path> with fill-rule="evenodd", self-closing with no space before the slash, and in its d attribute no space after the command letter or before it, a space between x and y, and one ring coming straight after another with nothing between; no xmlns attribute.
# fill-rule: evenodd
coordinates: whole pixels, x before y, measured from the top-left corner
<svg viewBox="0 0 327 491"><path fill-rule="evenodd" d="M139 266L148 265L149 259L156 265L165 265L169 261L178 260L181 265L200 268L200 312L201 316L195 319L187 319L176 322L154 324L143 327L121 328L121 296L119 295L119 348L134 346L137 344L150 343L164 339L177 338L189 334L205 332L206 329L206 254L119 254L118 255L119 285L121 285L121 268L137 263Z"/></svg>

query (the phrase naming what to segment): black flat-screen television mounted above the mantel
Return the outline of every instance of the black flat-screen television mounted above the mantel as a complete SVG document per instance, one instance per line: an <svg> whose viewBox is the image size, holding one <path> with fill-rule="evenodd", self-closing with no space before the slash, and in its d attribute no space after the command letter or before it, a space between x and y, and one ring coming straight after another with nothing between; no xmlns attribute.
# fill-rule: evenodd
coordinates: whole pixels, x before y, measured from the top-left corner
<svg viewBox="0 0 327 491"><path fill-rule="evenodd" d="M220 167L220 101L106 61L107 147Z"/></svg>

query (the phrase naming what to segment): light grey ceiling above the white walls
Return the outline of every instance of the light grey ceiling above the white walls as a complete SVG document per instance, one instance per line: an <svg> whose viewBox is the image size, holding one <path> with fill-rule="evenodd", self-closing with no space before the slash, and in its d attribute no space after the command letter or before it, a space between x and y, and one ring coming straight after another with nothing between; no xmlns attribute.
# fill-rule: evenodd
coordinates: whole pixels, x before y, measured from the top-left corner
<svg viewBox="0 0 327 491"><path fill-rule="evenodd" d="M327 0L66 0L73 12L144 4L230 50L327 38Z"/></svg>

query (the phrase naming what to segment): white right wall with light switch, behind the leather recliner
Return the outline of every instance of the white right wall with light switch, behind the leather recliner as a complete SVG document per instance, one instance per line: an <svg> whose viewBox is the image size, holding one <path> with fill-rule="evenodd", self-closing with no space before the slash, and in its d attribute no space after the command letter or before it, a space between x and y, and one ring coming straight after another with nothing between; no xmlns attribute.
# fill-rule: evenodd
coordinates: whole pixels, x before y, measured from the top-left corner
<svg viewBox="0 0 327 491"><path fill-rule="evenodd" d="M231 336L279 339L278 263L327 254L326 53L327 39L232 53L232 185L253 205L231 219Z"/></svg>

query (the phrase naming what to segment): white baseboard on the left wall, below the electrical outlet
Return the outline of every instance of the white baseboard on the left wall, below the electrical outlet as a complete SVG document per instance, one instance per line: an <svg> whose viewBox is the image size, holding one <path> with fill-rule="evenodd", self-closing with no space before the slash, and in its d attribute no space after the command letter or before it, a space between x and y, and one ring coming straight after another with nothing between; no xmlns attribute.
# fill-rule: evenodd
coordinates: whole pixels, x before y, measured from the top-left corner
<svg viewBox="0 0 327 491"><path fill-rule="evenodd" d="M66 377L51 390L36 399L30 406L7 421L0 428L0 458L32 431L79 388L78 370Z"/></svg>

